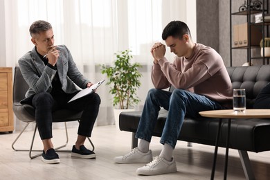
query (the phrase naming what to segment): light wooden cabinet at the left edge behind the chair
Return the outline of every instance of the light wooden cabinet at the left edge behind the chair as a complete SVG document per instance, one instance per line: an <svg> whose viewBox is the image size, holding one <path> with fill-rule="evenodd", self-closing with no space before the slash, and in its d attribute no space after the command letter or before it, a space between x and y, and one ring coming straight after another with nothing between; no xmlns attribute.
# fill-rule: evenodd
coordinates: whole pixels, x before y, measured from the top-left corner
<svg viewBox="0 0 270 180"><path fill-rule="evenodd" d="M12 68L0 67L0 132L13 132Z"/></svg>

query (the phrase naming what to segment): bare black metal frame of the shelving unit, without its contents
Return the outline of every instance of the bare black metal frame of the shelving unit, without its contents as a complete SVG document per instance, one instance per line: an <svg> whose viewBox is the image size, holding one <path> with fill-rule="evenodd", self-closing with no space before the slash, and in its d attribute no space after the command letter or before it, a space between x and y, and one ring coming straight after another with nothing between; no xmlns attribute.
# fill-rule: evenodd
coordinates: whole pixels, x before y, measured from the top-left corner
<svg viewBox="0 0 270 180"><path fill-rule="evenodd" d="M258 33L251 34L251 29L255 29L257 28L258 30L260 30L260 35L262 35L262 39L264 39L264 37L269 37L269 25L270 25L270 21L264 21L264 15L268 14L268 9L269 9L269 0L261 0L260 2L261 4L261 8L260 10L250 7L250 5L253 5L254 2L258 3L258 0L246 0L244 1L244 5L246 6L245 10L239 11L239 12L232 12L232 0L230 0L230 64L231 66L233 66L233 55L232 55L232 51L233 49L246 49L246 62L249 63L249 65L251 65L251 60L258 60L261 59L262 63L265 64L265 61L267 60L267 64L269 64L269 58L270 57L264 57L264 48L263 48L263 55L260 57L255 57L253 55L251 55L251 49L252 48L260 48L260 44L252 44L251 45L251 38L252 36L257 35ZM235 5L234 5L235 6ZM253 15L258 14L258 13L262 13L262 22L260 23L255 23L254 21L251 21L251 17L253 17ZM241 47L233 47L233 33L232 33L232 17L233 16L246 16L246 23L247 23L247 45L246 46L241 46ZM257 31L258 31L257 30Z"/></svg>

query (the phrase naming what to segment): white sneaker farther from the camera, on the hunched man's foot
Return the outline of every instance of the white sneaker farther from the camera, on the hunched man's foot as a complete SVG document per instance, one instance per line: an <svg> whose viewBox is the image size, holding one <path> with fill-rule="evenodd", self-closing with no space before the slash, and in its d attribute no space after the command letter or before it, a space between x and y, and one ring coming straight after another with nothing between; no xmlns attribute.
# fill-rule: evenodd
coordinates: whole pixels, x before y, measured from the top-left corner
<svg viewBox="0 0 270 180"><path fill-rule="evenodd" d="M129 154L125 156L118 156L114 158L115 163L149 163L153 160L152 151L144 153L138 150L138 147L135 147Z"/></svg>

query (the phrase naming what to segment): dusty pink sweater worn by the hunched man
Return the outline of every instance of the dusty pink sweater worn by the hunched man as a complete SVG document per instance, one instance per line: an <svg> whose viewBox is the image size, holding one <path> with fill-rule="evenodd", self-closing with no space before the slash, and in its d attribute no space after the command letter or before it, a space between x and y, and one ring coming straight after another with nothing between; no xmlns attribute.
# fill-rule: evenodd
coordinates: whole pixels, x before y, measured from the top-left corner
<svg viewBox="0 0 270 180"><path fill-rule="evenodd" d="M165 57L152 67L152 82L156 89L174 86L204 95L211 100L232 106L233 89L222 57L203 44L196 44L190 58L175 57L170 63Z"/></svg>

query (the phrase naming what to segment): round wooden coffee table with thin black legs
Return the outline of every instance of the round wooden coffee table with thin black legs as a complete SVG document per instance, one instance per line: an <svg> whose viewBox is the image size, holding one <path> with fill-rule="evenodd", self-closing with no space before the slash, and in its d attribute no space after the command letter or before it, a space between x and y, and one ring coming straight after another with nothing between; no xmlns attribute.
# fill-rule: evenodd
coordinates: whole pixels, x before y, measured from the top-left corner
<svg viewBox="0 0 270 180"><path fill-rule="evenodd" d="M228 143L230 141L230 129L231 129L231 119L232 118L270 118L270 109L246 109L244 112L236 112L233 109L222 109L213 111L201 111L199 112L201 116L207 118L219 118L219 127L217 130L217 137L215 141L215 154L213 168L211 172L211 179L215 177L215 164L217 161L217 148L219 141L219 134L222 125L222 119L228 119L228 132L226 139L226 156L225 156L225 167L224 167L224 179L227 178L227 167L228 167Z"/></svg>

